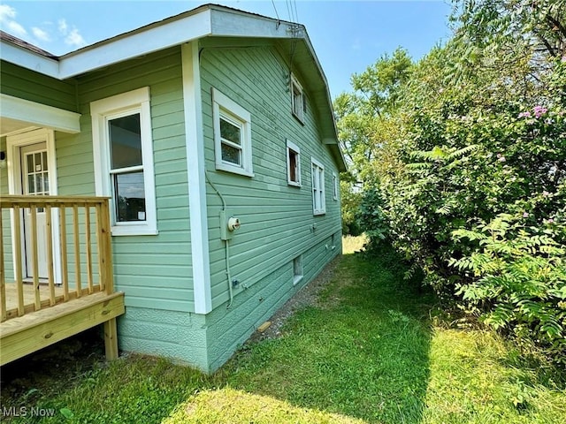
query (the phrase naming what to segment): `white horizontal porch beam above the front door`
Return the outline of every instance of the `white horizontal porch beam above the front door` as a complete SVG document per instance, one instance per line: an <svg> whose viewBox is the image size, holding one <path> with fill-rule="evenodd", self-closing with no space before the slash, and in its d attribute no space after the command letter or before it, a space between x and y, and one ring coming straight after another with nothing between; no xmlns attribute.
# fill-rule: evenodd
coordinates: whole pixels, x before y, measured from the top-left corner
<svg viewBox="0 0 566 424"><path fill-rule="evenodd" d="M0 116L51 128L63 133L80 133L80 114L0 94Z"/></svg>

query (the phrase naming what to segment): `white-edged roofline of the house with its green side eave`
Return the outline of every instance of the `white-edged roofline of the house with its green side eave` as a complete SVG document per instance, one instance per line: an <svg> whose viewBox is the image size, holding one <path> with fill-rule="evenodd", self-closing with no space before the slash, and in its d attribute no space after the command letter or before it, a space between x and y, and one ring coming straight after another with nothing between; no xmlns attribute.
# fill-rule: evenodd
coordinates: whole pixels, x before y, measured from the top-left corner
<svg viewBox="0 0 566 424"><path fill-rule="evenodd" d="M304 26L218 4L205 4L61 57L0 33L1 58L56 79L68 79L111 64L203 38L267 40L283 51L293 51L289 66L298 70L313 97L323 141L340 170L346 170L338 147L332 100L325 73Z"/></svg>

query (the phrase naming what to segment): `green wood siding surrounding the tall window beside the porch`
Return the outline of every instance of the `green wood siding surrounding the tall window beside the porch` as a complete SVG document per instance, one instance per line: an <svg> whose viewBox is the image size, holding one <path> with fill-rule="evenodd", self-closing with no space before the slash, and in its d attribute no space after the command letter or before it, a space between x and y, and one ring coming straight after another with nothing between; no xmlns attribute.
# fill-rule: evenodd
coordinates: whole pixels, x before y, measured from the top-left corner
<svg viewBox="0 0 566 424"><path fill-rule="evenodd" d="M90 102L149 86L159 234L112 238L115 284L126 307L194 310L180 49L77 80L81 133L57 140L59 193L95 192Z"/></svg>

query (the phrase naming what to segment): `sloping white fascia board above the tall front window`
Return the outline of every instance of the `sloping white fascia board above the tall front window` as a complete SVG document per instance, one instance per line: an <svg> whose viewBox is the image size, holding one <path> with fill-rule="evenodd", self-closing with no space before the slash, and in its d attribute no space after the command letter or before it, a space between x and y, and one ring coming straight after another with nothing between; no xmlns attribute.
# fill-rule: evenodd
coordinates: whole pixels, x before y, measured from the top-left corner
<svg viewBox="0 0 566 424"><path fill-rule="evenodd" d="M111 42L80 49L61 57L58 78L71 78L81 73L147 55L210 34L210 10L201 11L157 27L124 34Z"/></svg>

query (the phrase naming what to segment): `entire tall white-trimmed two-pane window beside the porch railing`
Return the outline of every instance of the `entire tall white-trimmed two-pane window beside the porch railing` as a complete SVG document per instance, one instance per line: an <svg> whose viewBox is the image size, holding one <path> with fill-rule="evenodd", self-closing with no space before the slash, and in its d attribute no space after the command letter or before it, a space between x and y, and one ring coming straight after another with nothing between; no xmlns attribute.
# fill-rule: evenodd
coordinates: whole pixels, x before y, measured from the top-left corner
<svg viewBox="0 0 566 424"><path fill-rule="evenodd" d="M111 197L114 236L157 234L149 87L90 103L96 194Z"/></svg>

